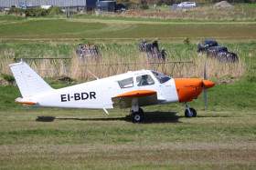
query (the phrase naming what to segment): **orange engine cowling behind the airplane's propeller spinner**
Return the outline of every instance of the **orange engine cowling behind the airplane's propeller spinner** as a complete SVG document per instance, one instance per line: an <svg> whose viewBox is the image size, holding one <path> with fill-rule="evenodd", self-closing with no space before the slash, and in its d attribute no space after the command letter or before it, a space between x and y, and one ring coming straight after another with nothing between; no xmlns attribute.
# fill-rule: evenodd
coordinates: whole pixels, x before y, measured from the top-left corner
<svg viewBox="0 0 256 170"><path fill-rule="evenodd" d="M176 93L180 103L191 102L202 93L202 79L199 78L176 78Z"/></svg>

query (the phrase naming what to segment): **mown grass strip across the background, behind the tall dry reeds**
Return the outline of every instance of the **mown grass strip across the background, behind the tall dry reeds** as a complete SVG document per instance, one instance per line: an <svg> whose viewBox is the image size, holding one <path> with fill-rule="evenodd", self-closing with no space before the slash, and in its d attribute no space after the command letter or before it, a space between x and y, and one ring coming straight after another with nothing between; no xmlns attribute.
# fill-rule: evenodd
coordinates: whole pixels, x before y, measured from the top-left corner
<svg viewBox="0 0 256 170"><path fill-rule="evenodd" d="M164 38L172 40L186 36L199 39L219 38L239 40L255 39L255 23L169 23L144 20L105 20L93 17L77 20L29 19L0 25L3 40L78 40L80 38L134 39ZM219 34L221 33L221 34Z"/></svg>

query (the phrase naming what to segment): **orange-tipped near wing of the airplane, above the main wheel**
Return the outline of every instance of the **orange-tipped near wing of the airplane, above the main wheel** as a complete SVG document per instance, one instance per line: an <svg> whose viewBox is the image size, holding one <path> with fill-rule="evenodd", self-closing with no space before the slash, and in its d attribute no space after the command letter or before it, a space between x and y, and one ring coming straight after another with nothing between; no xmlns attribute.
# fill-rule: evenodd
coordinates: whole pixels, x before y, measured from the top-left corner
<svg viewBox="0 0 256 170"><path fill-rule="evenodd" d="M132 106L133 97L138 98L140 106L155 105L163 102L163 100L157 99L157 94L153 90L136 90L112 97L113 106L129 108Z"/></svg>

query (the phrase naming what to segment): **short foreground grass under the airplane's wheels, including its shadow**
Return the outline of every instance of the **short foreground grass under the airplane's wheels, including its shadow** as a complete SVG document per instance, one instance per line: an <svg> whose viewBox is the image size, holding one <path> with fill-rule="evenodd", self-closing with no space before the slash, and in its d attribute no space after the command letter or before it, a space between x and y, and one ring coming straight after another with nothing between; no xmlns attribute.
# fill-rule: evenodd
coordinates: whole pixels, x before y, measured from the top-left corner
<svg viewBox="0 0 256 170"><path fill-rule="evenodd" d="M18 105L18 104L16 104ZM128 110L1 111L1 168L155 169L255 167L255 114L199 111L184 118L173 105L144 108L144 124ZM245 109L247 110L247 109ZM54 122L36 122L39 115Z"/></svg>

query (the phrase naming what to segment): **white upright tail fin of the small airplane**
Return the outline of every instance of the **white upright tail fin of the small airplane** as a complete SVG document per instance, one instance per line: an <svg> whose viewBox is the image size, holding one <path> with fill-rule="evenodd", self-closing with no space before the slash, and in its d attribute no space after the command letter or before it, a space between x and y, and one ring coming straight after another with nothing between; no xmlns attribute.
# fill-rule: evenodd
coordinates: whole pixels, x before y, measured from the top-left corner
<svg viewBox="0 0 256 170"><path fill-rule="evenodd" d="M9 66L15 75L16 84L23 97L53 90L27 63L20 62Z"/></svg>

